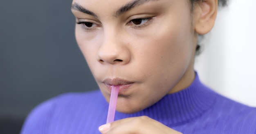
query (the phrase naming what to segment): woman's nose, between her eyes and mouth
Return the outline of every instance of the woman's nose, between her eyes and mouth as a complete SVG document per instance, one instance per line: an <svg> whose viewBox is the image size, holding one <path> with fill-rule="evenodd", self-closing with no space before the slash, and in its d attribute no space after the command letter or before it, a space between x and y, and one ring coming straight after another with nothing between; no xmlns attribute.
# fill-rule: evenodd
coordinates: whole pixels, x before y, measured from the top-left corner
<svg viewBox="0 0 256 134"><path fill-rule="evenodd" d="M97 60L101 64L125 65L130 62L131 54L128 45L121 41L117 34L103 34L103 40L98 50Z"/></svg>

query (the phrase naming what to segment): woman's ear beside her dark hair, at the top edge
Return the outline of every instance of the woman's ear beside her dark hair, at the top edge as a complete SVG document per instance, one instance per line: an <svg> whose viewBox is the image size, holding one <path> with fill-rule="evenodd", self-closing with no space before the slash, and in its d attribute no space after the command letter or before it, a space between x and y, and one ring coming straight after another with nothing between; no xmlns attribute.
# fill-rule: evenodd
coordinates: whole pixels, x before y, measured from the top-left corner
<svg viewBox="0 0 256 134"><path fill-rule="evenodd" d="M207 34L213 28L218 11L218 0L202 0L195 5L195 32Z"/></svg>

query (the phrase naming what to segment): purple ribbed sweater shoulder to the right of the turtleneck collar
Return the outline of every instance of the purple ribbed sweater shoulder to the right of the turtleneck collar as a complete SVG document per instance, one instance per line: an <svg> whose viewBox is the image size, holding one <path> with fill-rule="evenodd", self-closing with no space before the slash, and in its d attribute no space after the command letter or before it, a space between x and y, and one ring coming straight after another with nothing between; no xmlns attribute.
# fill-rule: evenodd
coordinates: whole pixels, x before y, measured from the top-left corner
<svg viewBox="0 0 256 134"><path fill-rule="evenodd" d="M186 126L198 134L255 134L256 108L216 93L213 105Z"/></svg>

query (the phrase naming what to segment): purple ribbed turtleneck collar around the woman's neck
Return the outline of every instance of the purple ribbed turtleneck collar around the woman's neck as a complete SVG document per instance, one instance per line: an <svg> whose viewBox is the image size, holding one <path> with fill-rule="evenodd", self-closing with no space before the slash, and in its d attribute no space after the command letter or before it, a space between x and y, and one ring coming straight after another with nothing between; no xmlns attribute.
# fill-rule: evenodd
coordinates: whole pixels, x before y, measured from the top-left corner
<svg viewBox="0 0 256 134"><path fill-rule="evenodd" d="M146 115L165 125L173 126L200 117L209 109L216 93L204 86L195 73L195 79L186 89L168 94L154 105L133 114L116 112L116 119Z"/></svg>

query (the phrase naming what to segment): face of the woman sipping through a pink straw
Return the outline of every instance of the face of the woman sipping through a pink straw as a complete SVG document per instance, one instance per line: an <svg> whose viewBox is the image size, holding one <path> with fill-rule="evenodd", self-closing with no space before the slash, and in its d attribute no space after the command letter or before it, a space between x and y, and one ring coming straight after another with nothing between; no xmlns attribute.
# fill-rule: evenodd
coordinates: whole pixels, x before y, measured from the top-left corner
<svg viewBox="0 0 256 134"><path fill-rule="evenodd" d="M76 40L119 112L147 108L194 78L196 34L188 0L73 0Z"/></svg>

